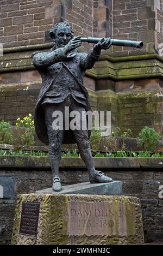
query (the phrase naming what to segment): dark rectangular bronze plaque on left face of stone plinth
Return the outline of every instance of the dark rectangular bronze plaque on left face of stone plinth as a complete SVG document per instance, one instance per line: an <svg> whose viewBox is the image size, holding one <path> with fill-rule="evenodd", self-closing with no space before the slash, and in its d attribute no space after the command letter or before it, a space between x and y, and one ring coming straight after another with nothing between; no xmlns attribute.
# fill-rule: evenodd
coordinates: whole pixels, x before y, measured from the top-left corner
<svg viewBox="0 0 163 256"><path fill-rule="evenodd" d="M37 236L39 211L39 203L22 203L22 214L19 234L27 236Z"/></svg>

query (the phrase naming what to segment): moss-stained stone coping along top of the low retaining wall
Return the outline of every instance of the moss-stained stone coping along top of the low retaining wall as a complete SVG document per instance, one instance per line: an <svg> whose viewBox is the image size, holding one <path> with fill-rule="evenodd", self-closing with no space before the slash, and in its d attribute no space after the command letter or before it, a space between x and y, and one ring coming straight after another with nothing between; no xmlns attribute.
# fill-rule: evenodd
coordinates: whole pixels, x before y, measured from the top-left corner
<svg viewBox="0 0 163 256"><path fill-rule="evenodd" d="M135 157L93 157L96 168L162 168L163 158L135 158ZM49 158L40 156L0 156L0 167L21 168L49 168ZM61 168L85 168L80 157L62 157Z"/></svg>

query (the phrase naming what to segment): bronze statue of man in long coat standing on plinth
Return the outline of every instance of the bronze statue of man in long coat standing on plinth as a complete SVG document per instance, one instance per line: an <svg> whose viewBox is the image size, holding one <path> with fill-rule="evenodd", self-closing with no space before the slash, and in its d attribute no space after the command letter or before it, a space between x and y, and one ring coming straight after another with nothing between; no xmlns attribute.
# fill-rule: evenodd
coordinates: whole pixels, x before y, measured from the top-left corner
<svg viewBox="0 0 163 256"><path fill-rule="evenodd" d="M49 159L53 174L53 190L61 190L59 162L61 145L77 142L80 156L87 170L89 180L111 182L101 171L95 170L90 150L88 129L54 129L54 111L61 111L65 120L65 107L69 111L91 110L89 95L83 86L86 69L91 69L101 54L101 49L109 49L110 38L102 39L87 53L77 53L82 43L80 36L73 38L73 30L67 22L60 22L49 32L55 45L49 52L34 52L33 64L42 77L42 88L35 108L35 130L38 138L49 145ZM82 116L82 115L81 115Z"/></svg>

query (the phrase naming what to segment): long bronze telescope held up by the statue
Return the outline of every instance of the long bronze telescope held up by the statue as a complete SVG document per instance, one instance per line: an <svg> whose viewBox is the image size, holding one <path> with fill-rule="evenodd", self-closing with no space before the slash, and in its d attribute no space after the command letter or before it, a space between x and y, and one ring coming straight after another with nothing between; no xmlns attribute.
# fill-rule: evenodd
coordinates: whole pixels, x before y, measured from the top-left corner
<svg viewBox="0 0 163 256"><path fill-rule="evenodd" d="M98 37L81 37L80 40L82 42L87 42L91 44L97 44L102 38ZM136 47L136 48L142 48L143 42L142 41L133 41L133 40L122 40L122 39L110 39L111 45L116 46L128 46L128 47Z"/></svg>

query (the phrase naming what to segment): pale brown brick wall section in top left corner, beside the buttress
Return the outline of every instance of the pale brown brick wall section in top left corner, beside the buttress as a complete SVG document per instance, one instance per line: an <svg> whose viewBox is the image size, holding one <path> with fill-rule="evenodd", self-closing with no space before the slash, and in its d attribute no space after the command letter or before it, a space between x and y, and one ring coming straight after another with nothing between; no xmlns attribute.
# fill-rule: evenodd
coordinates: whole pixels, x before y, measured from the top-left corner
<svg viewBox="0 0 163 256"><path fill-rule="evenodd" d="M46 9L52 0L1 1L0 37L3 47L15 47L31 44L41 44L45 40L45 31L52 27L53 19L47 18Z"/></svg>

